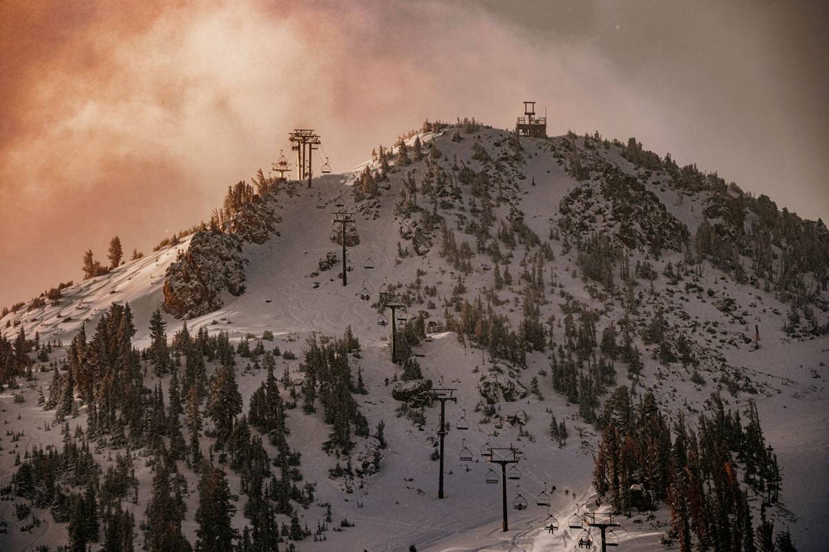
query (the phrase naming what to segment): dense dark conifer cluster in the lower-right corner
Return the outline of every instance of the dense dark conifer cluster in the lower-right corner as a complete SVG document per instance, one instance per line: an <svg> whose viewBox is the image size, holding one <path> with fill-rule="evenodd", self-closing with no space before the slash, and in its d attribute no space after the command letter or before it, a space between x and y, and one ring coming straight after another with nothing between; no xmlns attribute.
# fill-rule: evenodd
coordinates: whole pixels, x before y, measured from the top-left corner
<svg viewBox="0 0 829 552"><path fill-rule="evenodd" d="M718 394L708 406L695 430L681 412L671 424L650 391L636 402L627 387L618 387L600 420L594 487L627 516L634 507L649 510L667 502L671 535L683 552L694 546L716 552L793 550L785 543L775 548L771 535L764 539L770 523L765 515L754 527L750 493L762 497L765 508L778 501L782 481L754 402L745 422L739 411L725 410ZM740 485L739 471L748 489Z"/></svg>

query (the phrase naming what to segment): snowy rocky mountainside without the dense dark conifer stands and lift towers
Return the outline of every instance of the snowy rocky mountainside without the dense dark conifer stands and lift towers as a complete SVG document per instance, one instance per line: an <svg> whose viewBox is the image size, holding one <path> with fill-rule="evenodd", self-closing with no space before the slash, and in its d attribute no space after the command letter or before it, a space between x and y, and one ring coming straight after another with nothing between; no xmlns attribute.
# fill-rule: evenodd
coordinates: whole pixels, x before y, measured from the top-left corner
<svg viewBox="0 0 829 552"><path fill-rule="evenodd" d="M282 353L276 372L286 371L279 384L284 401L302 403L306 339L341 338L351 327L361 350L348 353L348 362L366 388L353 397L372 433L385 424L388 446L356 436L354 449L337 458L323 451L332 430L321 408L287 410L288 446L302 454L303 482L314 483L310 506L295 507L300 524L316 533L326 504L332 511L325 540L308 536L293 543L298 550L574 548L580 530L566 521L577 507L608 511L593 470L599 419L617 386L628 386L637 401L651 391L671 420L682 411L690 425L710 410L714 391L730 410L742 412L754 401L783 474L768 518L776 530L788 527L801 550L829 538L818 508L827 497L821 474L829 468L829 232L821 221L803 221L635 141L518 138L469 123L424 125L402 143L351 173L315 178L310 188L260 176L229 194L212 229L65 287L60 297L6 312L0 331L9 344L0 373L11 374L19 362L20 347L11 342L21 332L55 347L28 353L31 375L18 374L19 388L5 386L0 395L7 426L0 445L8 453L0 454L0 486L17 472L17 454L25 463L25 451L61 449L60 425L51 427L56 413L44 410L38 393L49 396L54 362L65 372L68 345L81 327L91 337L110 305L128 303L140 349L152 343L150 319L159 307L171 341L185 320L191 335L226 334L238 349L245 415L265 380L263 349ZM338 277L339 226L332 224L341 209L355 221L347 286ZM404 370L391 362L389 327L378 324L390 316L381 291L398 294L413 322L419 343L407 370L413 361L431 385L456 389L457 402L447 406L444 500L437 499L432 459L439 408L421 410L426 394L416 391L429 384L398 382ZM415 335L415 319L426 338ZM610 333L641 362L609 353ZM155 374L152 358L141 358L143 386L162 384L166 393L171 376ZM572 382L560 372L567 362ZM208 374L218 364L208 359ZM398 398L413 397L398 401L395 390ZM73 432L89 425L90 415L80 391L75 399L77 411L66 417ZM565 423L567 439L550 438L553 416ZM454 429L462 417L469 430ZM265 441L269 455L277 454ZM214 442L202 436L203 452ZM500 486L484 482L491 465L480 451L487 443L521 450L521 479L508 482L508 500L520 494L530 506L510 511L505 533ZM459 459L464 447L472 461ZM92 448L104 471L115 451L124 453L111 439ZM151 494L148 449L132 451L138 501L124 500L137 525ZM368 457L376 463L363 473L337 470L346 463L365 468ZM216 463L237 497L233 521L242 530L250 522L240 470L218 453ZM193 541L199 477L178 464L189 490L182 526ZM560 522L553 534L544 527L548 508L535 506L545 488ZM3 498L8 534L0 534L0 548L67 542L66 524L48 508L33 508L41 523L32 527L32 516L18 519L12 506L29 501L12 487ZM756 522L759 498L751 495L751 502ZM279 525L290 521L276 517ZM620 550L661 550L668 518L665 502L652 513L617 516ZM138 526L136 533L143 541Z"/></svg>

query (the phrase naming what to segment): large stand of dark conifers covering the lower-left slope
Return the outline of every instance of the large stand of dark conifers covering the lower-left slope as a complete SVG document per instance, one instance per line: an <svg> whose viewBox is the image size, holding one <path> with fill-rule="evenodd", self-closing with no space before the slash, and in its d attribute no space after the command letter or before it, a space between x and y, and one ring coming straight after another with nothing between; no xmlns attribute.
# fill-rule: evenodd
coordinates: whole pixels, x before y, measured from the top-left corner
<svg viewBox="0 0 829 552"><path fill-rule="evenodd" d="M37 507L51 508L56 521L68 522L69 550L82 552L90 543L101 541L107 552L134 550L136 521L122 502L138 502L133 451L143 449L153 469L148 506L138 525L144 550L264 552L278 550L285 540L310 535L308 527L300 525L293 505L310 506L314 489L308 483L298 485L303 480L298 470L300 456L288 448L286 401L274 377L274 354L265 351L261 342L251 348L246 339L235 347L227 334L209 335L204 328L191 335L187 324L182 324L168 343L159 311L150 321L148 348L134 348L134 334L129 305L114 304L102 315L91 338L81 328L72 340L65 362L55 365L48 397L42 397L42 404L56 410L58 420L77 416L79 406L87 406L87 431L79 428L70 434L64 423L62 452L38 447L17 458L12 478L17 495ZM21 358L28 358L36 348L46 347L26 340L25 334L19 336L17 345L9 345L10 352L5 353L5 347L0 350L12 358L19 350ZM349 350L353 350L356 338L350 335L347 339ZM264 365L267 370L265 381L250 401L250 421L242 415L235 380L237 355L253 362L254 367L249 363L247 369ZM216 365L210 377L208 363ZM168 377L166 393L160 384L152 388L144 385L148 366L158 376ZM321 375L327 382L324 370ZM325 390L321 388L322 396L328 396L329 386L339 386L334 383L338 381L335 378ZM288 390L290 382L285 385ZM333 416L334 407L328 408ZM205 418L211 425L206 427ZM366 425L365 418L355 419L359 427ZM189 439L182 433L182 420ZM362 433L359 428L355 431ZM274 457L264 449L259 432L276 446ZM205 436L214 439L209 458L202 451ZM125 447L126 452L117 453L101 473L90 452L92 441L115 449ZM214 463L216 455L223 467ZM192 513L198 522L193 544L182 532L187 482L178 471L180 460L201 476L199 504ZM240 474L241 492L247 496L244 513L250 526L241 535L231 525L236 498L230 493L226 469ZM280 524L279 515L288 516L288 521Z"/></svg>

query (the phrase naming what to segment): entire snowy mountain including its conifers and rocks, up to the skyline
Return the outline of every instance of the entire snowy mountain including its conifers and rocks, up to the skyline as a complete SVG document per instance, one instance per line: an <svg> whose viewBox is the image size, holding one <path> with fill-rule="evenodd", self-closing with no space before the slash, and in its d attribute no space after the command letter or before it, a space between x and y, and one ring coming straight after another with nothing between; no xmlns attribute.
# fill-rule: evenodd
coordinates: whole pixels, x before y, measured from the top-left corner
<svg viewBox="0 0 829 552"><path fill-rule="evenodd" d="M827 286L821 220L633 138L427 122L310 188L259 171L3 310L0 545L558 550L613 515L620 549L805 550Z"/></svg>

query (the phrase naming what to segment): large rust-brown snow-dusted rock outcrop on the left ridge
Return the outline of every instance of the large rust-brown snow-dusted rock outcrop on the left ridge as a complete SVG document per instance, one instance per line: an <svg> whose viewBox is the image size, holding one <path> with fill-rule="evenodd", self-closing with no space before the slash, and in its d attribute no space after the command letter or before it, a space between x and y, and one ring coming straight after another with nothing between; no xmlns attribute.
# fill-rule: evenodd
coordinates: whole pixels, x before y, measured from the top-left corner
<svg viewBox="0 0 829 552"><path fill-rule="evenodd" d="M164 310L182 318L207 314L224 305L222 292L245 291L241 239L213 230L196 232L187 252L167 267Z"/></svg>

